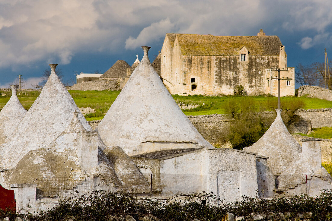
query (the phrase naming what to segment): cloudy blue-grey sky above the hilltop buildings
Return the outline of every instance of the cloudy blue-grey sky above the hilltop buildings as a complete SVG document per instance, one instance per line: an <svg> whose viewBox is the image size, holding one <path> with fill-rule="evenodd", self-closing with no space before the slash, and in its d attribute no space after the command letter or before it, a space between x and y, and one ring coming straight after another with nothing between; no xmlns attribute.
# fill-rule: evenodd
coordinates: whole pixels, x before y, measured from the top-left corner
<svg viewBox="0 0 332 221"><path fill-rule="evenodd" d="M331 0L1 0L0 88L37 84L48 63L65 80L158 54L166 33L277 35L288 66L332 59Z"/></svg>

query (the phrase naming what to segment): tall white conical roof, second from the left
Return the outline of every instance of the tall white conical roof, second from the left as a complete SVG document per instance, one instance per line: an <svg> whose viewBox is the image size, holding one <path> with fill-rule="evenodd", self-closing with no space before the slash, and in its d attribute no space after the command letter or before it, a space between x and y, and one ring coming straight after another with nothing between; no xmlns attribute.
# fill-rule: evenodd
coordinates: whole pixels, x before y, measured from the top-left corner
<svg viewBox="0 0 332 221"><path fill-rule="evenodd" d="M40 96L0 149L2 169L15 167L30 150L51 143L69 125L72 111L79 110L55 74L56 64L50 66L52 72ZM78 118L87 131L92 131L81 112Z"/></svg>

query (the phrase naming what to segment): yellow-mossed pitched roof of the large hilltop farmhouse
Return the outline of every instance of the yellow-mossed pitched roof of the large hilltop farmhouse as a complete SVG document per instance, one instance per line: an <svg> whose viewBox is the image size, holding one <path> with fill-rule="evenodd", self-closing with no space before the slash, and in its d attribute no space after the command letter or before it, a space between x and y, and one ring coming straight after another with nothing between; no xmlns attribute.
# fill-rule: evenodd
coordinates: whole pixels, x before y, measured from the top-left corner
<svg viewBox="0 0 332 221"><path fill-rule="evenodd" d="M282 45L278 36L167 35L170 41L173 41L171 45L178 39L182 55L237 56L238 51L245 46L251 56L279 56Z"/></svg>

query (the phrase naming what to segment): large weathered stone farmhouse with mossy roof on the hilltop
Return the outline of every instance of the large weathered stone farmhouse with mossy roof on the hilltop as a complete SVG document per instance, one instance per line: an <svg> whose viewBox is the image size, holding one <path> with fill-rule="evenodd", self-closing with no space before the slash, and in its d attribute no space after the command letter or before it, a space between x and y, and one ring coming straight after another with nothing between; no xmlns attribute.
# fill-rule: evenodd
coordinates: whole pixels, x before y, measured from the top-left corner
<svg viewBox="0 0 332 221"><path fill-rule="evenodd" d="M277 95L276 71L286 68L287 54L278 36L166 34L160 75L171 94L233 94L242 85L250 95ZM282 71L281 96L294 95L294 68ZM268 78L270 78L268 80Z"/></svg>

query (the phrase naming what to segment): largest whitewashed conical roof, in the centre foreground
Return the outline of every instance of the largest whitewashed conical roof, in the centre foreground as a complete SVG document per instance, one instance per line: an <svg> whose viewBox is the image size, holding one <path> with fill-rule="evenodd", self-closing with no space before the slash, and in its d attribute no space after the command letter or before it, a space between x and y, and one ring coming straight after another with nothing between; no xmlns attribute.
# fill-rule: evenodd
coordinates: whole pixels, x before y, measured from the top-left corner
<svg viewBox="0 0 332 221"><path fill-rule="evenodd" d="M178 107L147 52L96 131L106 146L129 156L163 149L213 148Z"/></svg>

